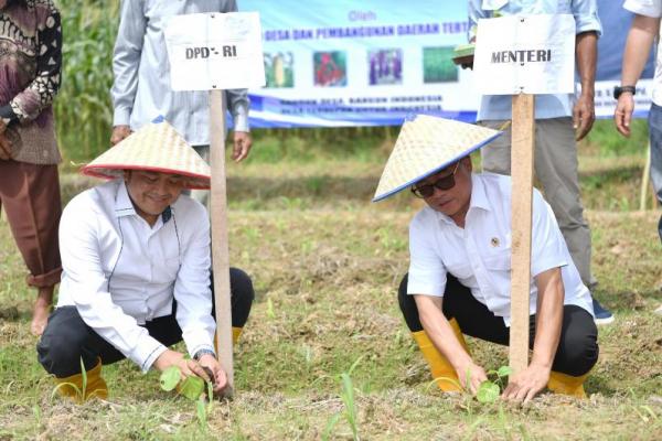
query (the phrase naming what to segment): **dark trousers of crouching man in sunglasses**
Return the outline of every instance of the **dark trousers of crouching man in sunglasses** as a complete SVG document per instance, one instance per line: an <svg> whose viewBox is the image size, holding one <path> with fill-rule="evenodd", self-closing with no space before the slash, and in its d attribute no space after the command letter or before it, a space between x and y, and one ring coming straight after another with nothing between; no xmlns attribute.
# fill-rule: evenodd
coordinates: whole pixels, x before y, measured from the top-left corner
<svg viewBox="0 0 662 441"><path fill-rule="evenodd" d="M397 297L409 331L418 332L423 331L423 325L414 295L407 294L407 276L401 282ZM448 320L457 320L463 334L501 345L509 344L510 327L505 326L503 319L476 300L469 288L451 275L448 275L441 309ZM528 323L528 347L533 348L535 314L531 315ZM578 377L594 367L598 353L598 329L592 316L579 306L566 304L552 370Z"/></svg>

